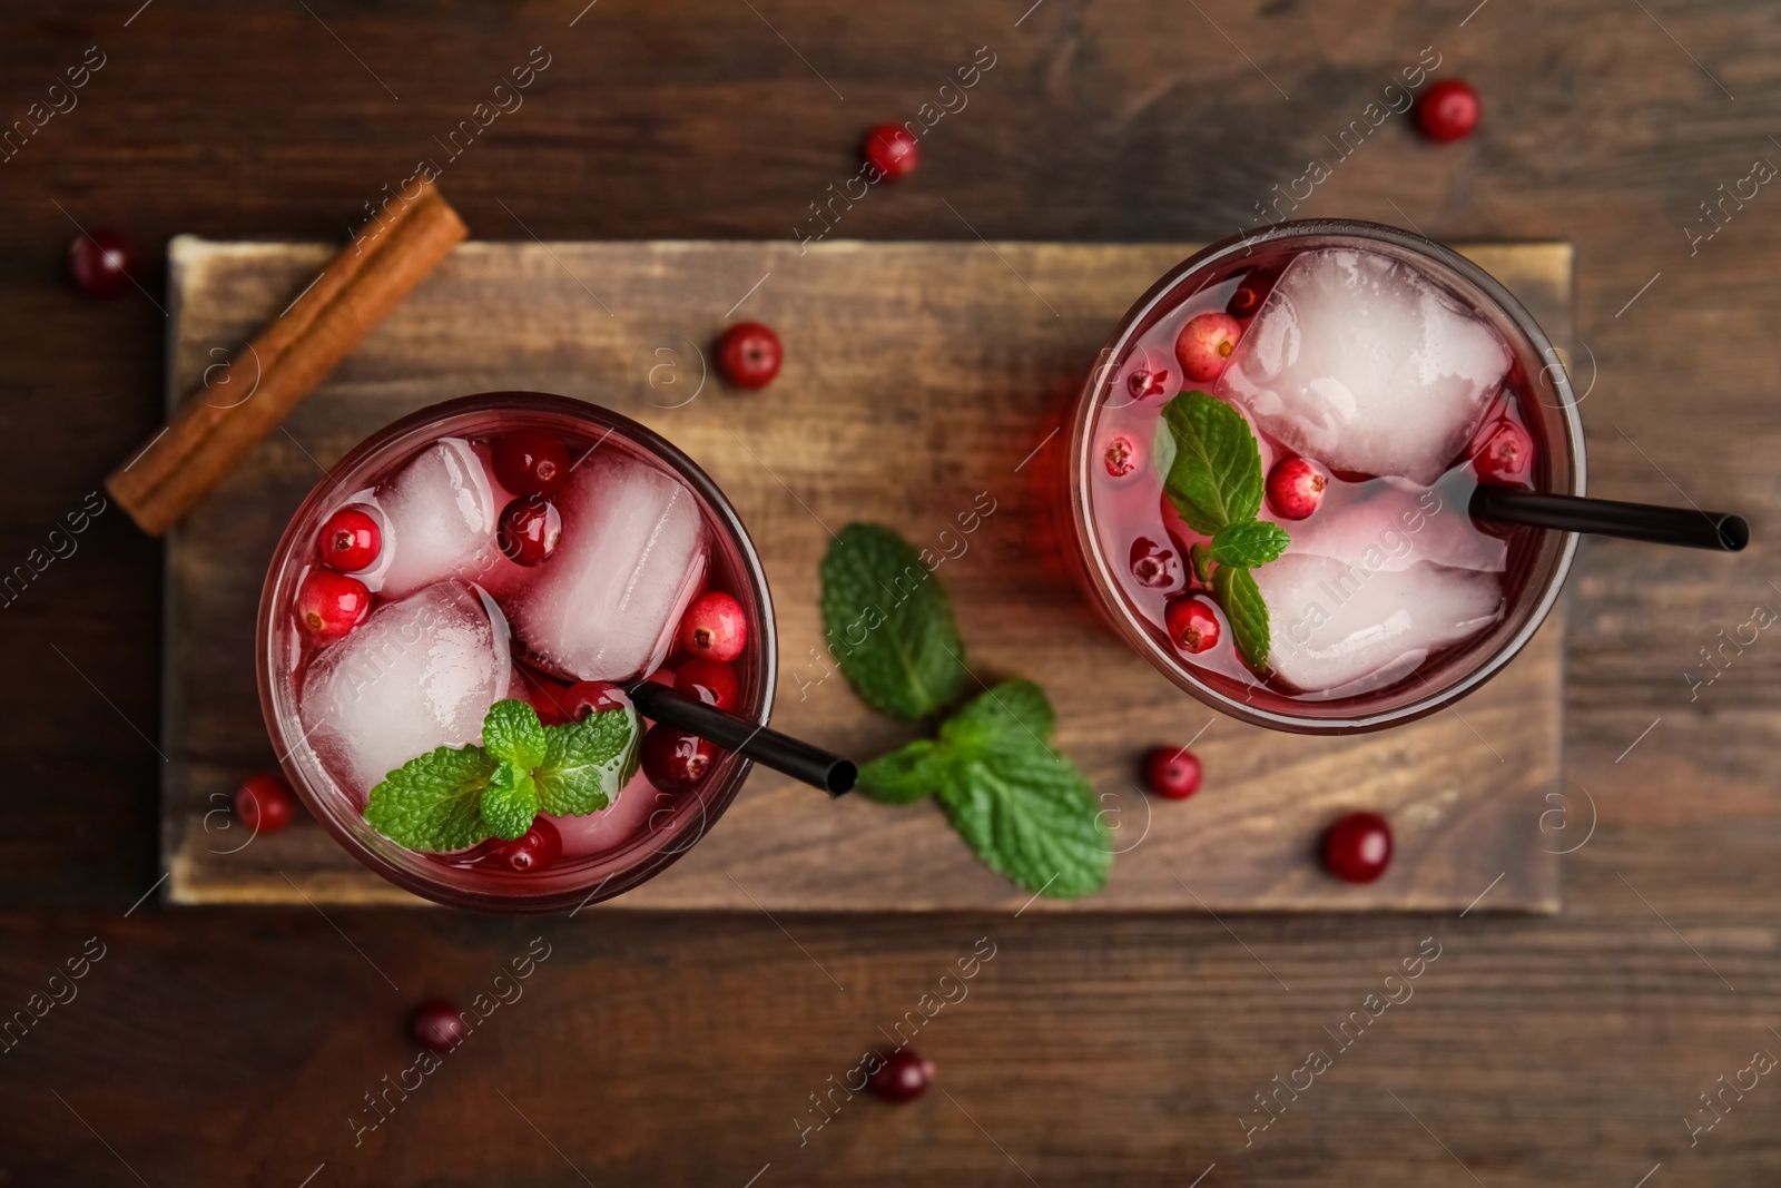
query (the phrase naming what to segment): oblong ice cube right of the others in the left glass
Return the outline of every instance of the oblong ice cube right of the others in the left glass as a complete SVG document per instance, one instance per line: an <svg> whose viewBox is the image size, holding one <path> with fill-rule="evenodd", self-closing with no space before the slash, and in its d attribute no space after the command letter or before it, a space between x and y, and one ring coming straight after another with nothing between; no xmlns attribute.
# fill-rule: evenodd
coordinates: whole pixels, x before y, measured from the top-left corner
<svg viewBox="0 0 1781 1188"><path fill-rule="evenodd" d="M575 467L563 540L509 600L513 632L545 671L641 677L668 655L705 572L705 524L680 479L616 449Z"/></svg>

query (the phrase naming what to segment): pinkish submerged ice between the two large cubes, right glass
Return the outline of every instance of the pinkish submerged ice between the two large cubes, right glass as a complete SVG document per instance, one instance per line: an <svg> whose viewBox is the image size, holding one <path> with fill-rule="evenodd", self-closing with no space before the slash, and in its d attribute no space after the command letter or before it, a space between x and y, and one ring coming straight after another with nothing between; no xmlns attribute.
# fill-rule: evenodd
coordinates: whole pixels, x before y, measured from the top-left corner
<svg viewBox="0 0 1781 1188"><path fill-rule="evenodd" d="M1416 486L1403 479L1330 483L1309 520L1286 522L1288 552L1336 557L1361 570L1407 570L1432 561L1455 570L1501 574L1509 545L1478 531L1460 484Z"/></svg>

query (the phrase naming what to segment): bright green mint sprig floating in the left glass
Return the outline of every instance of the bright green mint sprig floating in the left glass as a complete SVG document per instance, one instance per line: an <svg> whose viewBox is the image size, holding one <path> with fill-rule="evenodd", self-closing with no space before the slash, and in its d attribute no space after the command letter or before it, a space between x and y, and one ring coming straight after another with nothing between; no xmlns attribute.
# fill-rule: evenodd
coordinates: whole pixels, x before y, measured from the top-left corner
<svg viewBox="0 0 1781 1188"><path fill-rule="evenodd" d="M365 821L408 850L443 853L513 841L538 812L606 809L638 769L638 714L614 707L547 727L525 702L495 702L481 746L417 755L370 789Z"/></svg>

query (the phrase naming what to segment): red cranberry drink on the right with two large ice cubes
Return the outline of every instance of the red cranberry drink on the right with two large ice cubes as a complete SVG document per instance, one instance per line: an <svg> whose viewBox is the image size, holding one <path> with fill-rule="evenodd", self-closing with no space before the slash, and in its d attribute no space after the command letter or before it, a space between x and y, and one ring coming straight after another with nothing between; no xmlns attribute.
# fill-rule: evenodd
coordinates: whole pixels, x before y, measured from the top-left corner
<svg viewBox="0 0 1781 1188"><path fill-rule="evenodd" d="M1368 223L1186 260L1072 417L1094 602L1177 686L1282 730L1409 721L1532 638L1576 538L1473 520L1480 483L1583 492L1558 356L1482 269Z"/></svg>

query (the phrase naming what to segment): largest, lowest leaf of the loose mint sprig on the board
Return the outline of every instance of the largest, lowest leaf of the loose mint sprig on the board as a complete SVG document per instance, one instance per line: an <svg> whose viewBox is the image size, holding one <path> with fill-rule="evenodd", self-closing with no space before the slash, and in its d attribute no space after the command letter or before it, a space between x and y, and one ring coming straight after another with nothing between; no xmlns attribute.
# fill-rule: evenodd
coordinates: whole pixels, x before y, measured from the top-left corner
<svg viewBox="0 0 1781 1188"><path fill-rule="evenodd" d="M940 805L983 864L1056 899L1099 891L1113 846L1095 789L1070 762L1015 728L1004 746L955 764ZM1026 739L1026 741L1022 741Z"/></svg>

